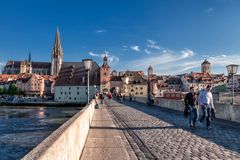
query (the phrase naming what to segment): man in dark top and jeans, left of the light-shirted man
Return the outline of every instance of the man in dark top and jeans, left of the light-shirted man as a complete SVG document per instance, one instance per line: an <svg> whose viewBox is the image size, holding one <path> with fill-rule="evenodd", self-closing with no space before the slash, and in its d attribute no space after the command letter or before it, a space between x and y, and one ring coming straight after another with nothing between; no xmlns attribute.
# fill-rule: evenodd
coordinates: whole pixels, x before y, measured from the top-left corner
<svg viewBox="0 0 240 160"><path fill-rule="evenodd" d="M190 92L184 98L185 106L189 110L189 124L190 128L196 128L196 121L198 118L197 110L197 96L194 92L194 87L190 88Z"/></svg>

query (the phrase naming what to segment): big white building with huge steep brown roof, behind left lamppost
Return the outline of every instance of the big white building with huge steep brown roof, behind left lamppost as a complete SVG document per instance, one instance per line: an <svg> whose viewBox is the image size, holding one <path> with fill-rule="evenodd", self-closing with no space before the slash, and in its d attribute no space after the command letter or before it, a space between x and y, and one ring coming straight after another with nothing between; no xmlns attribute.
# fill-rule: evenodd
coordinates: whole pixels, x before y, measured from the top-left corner
<svg viewBox="0 0 240 160"><path fill-rule="evenodd" d="M92 63L89 71L89 99L100 89L100 67ZM87 103L87 72L83 62L69 62L62 66L54 87L54 100L68 103Z"/></svg>

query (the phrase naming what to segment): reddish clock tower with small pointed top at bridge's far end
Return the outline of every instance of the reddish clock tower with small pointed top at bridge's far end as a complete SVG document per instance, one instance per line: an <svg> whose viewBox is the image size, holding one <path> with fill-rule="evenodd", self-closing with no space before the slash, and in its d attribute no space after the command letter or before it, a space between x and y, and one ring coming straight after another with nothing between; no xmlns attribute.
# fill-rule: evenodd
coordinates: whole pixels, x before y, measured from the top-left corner
<svg viewBox="0 0 240 160"><path fill-rule="evenodd" d="M100 67L100 92L110 92L110 66L107 55L103 57L103 65Z"/></svg>

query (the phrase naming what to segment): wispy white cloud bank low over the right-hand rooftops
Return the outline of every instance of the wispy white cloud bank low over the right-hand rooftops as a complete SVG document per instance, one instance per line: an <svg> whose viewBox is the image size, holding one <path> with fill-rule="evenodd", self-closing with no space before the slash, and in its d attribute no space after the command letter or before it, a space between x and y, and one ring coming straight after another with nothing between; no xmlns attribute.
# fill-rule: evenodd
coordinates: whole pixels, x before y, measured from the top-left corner
<svg viewBox="0 0 240 160"><path fill-rule="evenodd" d="M146 53L146 49L144 50ZM150 53L150 52L149 52ZM208 61L212 67L225 67L228 64L238 64L240 56L238 54L211 54L208 56ZM201 63L204 57L201 54L194 52L191 49L185 48L180 51L171 49L163 49L153 54L148 54L147 57L133 60L130 62L135 70L146 71L149 65L152 65L156 74L181 74L191 71L200 71ZM129 65L130 68L130 65Z"/></svg>

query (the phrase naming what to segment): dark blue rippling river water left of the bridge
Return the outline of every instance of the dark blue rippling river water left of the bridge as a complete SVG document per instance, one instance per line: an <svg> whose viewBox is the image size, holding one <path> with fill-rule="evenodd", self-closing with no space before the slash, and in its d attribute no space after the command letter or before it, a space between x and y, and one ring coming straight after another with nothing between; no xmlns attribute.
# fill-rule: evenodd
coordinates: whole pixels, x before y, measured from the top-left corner
<svg viewBox="0 0 240 160"><path fill-rule="evenodd" d="M0 106L0 160L21 159L79 110L77 107Z"/></svg>

